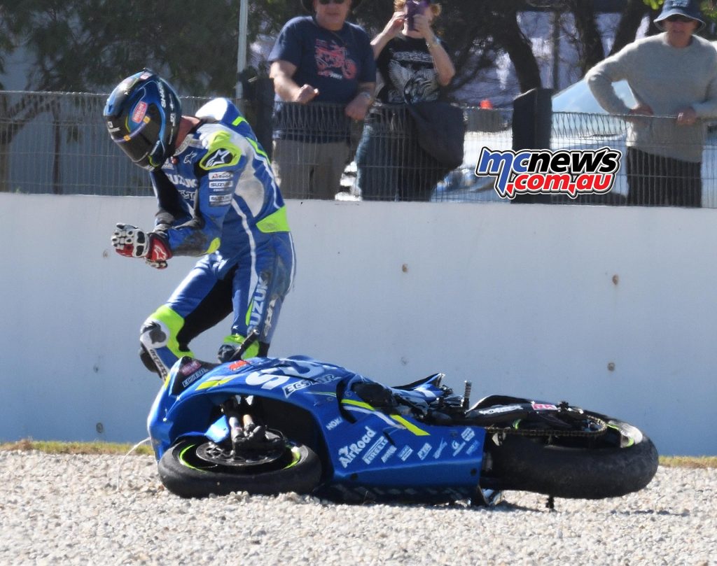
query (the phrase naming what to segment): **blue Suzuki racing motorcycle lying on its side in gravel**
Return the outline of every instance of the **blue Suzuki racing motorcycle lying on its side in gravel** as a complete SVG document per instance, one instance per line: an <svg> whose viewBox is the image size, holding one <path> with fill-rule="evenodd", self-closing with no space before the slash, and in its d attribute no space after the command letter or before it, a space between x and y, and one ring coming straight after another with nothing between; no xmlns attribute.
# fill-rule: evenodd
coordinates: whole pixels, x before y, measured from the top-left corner
<svg viewBox="0 0 717 566"><path fill-rule="evenodd" d="M389 387L312 358L181 358L148 417L158 471L182 497L295 491L341 502L492 504L503 490L619 497L657 451L619 419L490 395L470 406L429 375Z"/></svg>

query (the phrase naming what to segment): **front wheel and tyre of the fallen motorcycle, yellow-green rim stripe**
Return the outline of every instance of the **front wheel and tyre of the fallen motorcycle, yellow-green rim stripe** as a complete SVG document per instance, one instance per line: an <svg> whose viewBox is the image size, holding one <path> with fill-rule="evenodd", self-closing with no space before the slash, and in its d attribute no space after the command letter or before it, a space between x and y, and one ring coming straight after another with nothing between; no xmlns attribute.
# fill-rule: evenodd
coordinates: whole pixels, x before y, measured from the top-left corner
<svg viewBox="0 0 717 566"><path fill-rule="evenodd" d="M321 462L314 451L303 444L289 442L267 457L254 456L247 465L225 465L221 458L208 461L206 454L216 448L206 438L185 438L177 442L158 463L162 483L181 497L206 497L232 491L306 494L320 482Z"/></svg>

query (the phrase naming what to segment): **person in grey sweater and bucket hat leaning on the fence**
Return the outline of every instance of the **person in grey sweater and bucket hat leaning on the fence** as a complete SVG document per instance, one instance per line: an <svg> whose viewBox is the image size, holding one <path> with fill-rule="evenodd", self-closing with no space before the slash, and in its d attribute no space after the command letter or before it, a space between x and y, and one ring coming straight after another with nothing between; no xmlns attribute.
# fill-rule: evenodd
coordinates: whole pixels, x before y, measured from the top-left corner
<svg viewBox="0 0 717 566"><path fill-rule="evenodd" d="M624 115L627 203L701 206L705 118L717 117L717 49L702 29L697 0L665 0L655 19L662 34L638 39L595 65L587 84L608 112ZM637 106L612 87L627 80Z"/></svg>

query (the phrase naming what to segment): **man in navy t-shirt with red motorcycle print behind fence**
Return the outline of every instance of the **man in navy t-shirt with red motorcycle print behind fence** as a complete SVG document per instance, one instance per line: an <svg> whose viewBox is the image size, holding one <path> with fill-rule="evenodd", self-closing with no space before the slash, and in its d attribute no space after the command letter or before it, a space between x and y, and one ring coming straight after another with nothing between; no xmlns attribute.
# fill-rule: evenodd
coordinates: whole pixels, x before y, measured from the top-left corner
<svg viewBox="0 0 717 566"><path fill-rule="evenodd" d="M274 80L272 164L285 198L334 198L348 161L351 121L374 96L371 39L346 21L361 0L302 0L270 53Z"/></svg>

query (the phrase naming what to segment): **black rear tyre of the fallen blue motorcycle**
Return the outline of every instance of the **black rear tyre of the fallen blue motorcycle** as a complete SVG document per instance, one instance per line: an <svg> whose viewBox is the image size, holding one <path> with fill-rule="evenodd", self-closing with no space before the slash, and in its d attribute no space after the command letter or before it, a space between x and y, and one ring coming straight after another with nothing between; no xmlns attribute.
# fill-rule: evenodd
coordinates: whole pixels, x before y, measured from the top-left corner
<svg viewBox="0 0 717 566"><path fill-rule="evenodd" d="M549 441L508 435L500 446L487 438L488 482L498 489L575 499L620 497L647 486L657 471L650 438L617 419L589 414L609 423L607 433Z"/></svg>

